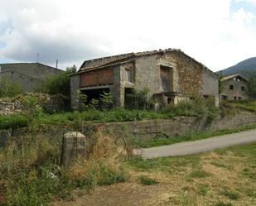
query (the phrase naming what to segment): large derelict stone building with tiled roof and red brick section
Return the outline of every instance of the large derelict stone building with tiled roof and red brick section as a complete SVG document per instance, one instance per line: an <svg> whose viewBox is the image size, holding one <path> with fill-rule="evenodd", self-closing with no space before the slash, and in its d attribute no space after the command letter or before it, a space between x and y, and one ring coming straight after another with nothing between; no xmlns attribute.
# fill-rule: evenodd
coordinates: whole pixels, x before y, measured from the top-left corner
<svg viewBox="0 0 256 206"><path fill-rule="evenodd" d="M70 76L71 107L78 106L77 90L89 98L110 92L115 105L124 106L131 89L148 89L150 98L163 103L200 94L219 105L216 74L181 50L167 49L85 60Z"/></svg>

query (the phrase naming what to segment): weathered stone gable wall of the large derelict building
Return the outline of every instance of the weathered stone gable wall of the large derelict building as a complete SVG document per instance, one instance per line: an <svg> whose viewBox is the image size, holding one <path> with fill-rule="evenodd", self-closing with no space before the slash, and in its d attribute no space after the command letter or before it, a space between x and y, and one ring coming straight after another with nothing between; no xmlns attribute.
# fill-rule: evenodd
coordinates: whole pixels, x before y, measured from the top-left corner
<svg viewBox="0 0 256 206"><path fill-rule="evenodd" d="M133 87L137 90L149 89L149 95L164 92L160 78L160 67L171 69L170 92L177 98L184 95L202 94L215 96L215 105L219 105L218 79L209 69L200 65L196 60L180 52L166 52L154 55L142 55L134 60L134 83L128 83L125 78L125 66L120 69L121 90ZM176 102L178 99L175 100Z"/></svg>

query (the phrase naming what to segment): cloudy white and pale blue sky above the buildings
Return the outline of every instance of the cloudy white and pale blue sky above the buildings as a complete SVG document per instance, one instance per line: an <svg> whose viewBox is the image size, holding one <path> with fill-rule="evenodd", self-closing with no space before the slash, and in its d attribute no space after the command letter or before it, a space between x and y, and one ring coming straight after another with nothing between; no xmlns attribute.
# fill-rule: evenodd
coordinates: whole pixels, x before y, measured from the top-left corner
<svg viewBox="0 0 256 206"><path fill-rule="evenodd" d="M214 71L256 56L256 0L0 2L1 63L35 62L39 53L41 63L65 68L165 48Z"/></svg>

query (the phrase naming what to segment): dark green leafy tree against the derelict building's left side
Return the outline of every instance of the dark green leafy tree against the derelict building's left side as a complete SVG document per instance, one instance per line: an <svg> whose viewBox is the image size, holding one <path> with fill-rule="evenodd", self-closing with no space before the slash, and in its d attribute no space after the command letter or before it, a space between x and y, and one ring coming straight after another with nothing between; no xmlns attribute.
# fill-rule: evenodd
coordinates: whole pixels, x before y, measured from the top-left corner
<svg viewBox="0 0 256 206"><path fill-rule="evenodd" d="M50 93L50 94L63 94L67 97L70 96L70 74L76 72L76 66L67 67L65 72L61 74L48 77L43 81L38 88L37 92Z"/></svg>

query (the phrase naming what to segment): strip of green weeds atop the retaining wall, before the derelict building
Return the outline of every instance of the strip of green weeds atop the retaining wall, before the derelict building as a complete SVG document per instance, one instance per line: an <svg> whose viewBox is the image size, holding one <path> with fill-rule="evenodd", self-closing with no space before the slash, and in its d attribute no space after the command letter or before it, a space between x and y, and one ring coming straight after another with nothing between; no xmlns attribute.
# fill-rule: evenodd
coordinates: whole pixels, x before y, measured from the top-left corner
<svg viewBox="0 0 256 206"><path fill-rule="evenodd" d="M206 117L208 122L212 122L218 117L219 110L215 108L210 101L202 98L196 98L188 102L178 103L176 106L171 105L161 111L146 109L126 109L111 108L113 100L109 93L104 93L99 101L100 109L95 105L85 105L84 112L66 112L46 114L36 105L34 98L27 103L34 108L30 113L15 114L10 116L0 115L0 129L17 128L17 127L44 127L48 125L72 125L82 124L84 121L93 122L128 122L139 121L143 119L168 119L176 116Z"/></svg>

